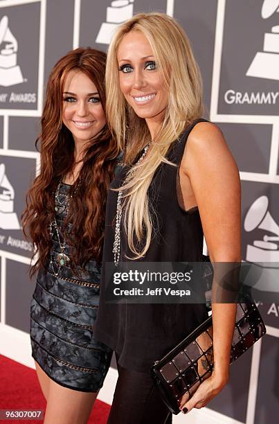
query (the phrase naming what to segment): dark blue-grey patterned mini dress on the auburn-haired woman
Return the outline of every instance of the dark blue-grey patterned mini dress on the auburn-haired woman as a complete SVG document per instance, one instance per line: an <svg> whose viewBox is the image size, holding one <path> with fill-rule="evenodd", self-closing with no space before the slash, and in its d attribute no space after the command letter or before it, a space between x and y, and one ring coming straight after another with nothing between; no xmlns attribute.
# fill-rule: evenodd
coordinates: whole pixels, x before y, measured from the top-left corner
<svg viewBox="0 0 279 424"><path fill-rule="evenodd" d="M58 198L71 186L61 183ZM62 202L62 201L61 201ZM61 227L65 208L55 200L55 219ZM60 204L57 204L60 203ZM44 372L59 385L78 391L98 391L109 369L111 349L93 337L99 292L100 267L89 260L78 276L69 264L58 265L62 234L53 231L53 247L46 270L39 270L30 310L32 355ZM69 245L64 254L69 256ZM61 257L61 256L60 256ZM62 261L63 263L63 261ZM58 275L57 275L58 273Z"/></svg>

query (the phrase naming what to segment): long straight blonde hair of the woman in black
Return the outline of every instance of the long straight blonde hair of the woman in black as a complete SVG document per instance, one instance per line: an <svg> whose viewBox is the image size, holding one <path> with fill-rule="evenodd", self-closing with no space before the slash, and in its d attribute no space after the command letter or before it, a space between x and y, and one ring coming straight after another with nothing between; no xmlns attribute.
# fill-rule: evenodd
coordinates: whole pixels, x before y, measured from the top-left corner
<svg viewBox="0 0 279 424"><path fill-rule="evenodd" d="M120 42L130 31L140 31L152 48L161 72L163 87L168 89L168 106L161 130L151 140L145 119L136 115L119 85L117 53ZM170 145L184 128L203 114L202 81L199 67L183 28L173 18L159 12L138 13L120 25L109 46L106 69L107 118L125 161L133 164L145 145L152 141L147 157L127 174L123 191L123 222L132 259L142 258L150 247L154 213L148 188ZM117 105L117 106L116 106Z"/></svg>

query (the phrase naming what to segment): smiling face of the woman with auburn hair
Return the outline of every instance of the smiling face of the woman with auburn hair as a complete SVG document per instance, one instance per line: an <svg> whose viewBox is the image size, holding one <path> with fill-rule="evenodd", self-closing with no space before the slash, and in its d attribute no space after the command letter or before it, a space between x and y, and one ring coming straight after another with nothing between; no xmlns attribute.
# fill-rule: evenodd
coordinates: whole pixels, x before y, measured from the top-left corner
<svg viewBox="0 0 279 424"><path fill-rule="evenodd" d="M106 123L95 84L81 71L70 71L63 91L63 123L75 145L92 139Z"/></svg>

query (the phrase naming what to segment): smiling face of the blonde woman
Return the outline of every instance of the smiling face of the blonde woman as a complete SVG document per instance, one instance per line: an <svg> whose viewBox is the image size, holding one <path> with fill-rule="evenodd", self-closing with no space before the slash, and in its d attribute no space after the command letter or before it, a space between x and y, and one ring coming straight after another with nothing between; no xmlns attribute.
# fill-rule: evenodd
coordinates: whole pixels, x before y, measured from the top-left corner
<svg viewBox="0 0 279 424"><path fill-rule="evenodd" d="M127 33L119 44L117 59L120 89L127 103L154 132L154 125L161 124L165 116L168 91L145 35L136 30Z"/></svg>

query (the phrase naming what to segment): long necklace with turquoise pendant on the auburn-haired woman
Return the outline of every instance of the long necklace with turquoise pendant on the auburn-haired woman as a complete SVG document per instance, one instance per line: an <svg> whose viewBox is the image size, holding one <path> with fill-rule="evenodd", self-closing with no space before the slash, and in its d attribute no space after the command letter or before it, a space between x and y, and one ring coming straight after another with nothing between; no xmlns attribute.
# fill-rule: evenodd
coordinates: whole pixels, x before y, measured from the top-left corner
<svg viewBox="0 0 279 424"><path fill-rule="evenodd" d="M62 179L60 179L60 182L58 183L56 191L53 192L53 197L54 197L54 202L55 202L55 212L62 213L62 212L65 211L66 213L65 213L64 220L66 220L66 217L69 213L71 200L73 199L73 195L76 193L76 191L78 191L78 187L80 186L80 184L78 184L78 186L75 188L75 191L71 195L69 195L65 192L60 193L61 184L62 184ZM71 262L71 259L69 258L69 256L65 254L66 240L64 238L63 243L60 240L60 231L62 229L62 225L61 225L61 227L58 226L57 221L56 221L56 217L55 217L55 213L54 213L53 220L50 222L50 233L51 233L51 238L53 238L54 233L56 233L58 244L59 244L59 247L60 247L60 254L57 255L56 259L55 259L55 256L53 254L53 251L51 249L51 266L53 268L53 273L55 274L55 276L58 276L58 274L60 272L60 268L62 266L68 265ZM55 269L54 269L54 266L53 266L53 263L55 263L55 262L57 263L57 266L58 266L58 270L56 272L55 272Z"/></svg>

